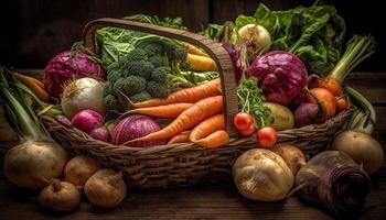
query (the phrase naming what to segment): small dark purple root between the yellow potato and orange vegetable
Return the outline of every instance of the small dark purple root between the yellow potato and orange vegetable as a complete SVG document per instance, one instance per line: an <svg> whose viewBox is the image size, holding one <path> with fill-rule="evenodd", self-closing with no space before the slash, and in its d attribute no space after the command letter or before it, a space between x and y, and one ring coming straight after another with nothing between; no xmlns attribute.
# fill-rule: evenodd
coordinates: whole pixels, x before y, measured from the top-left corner
<svg viewBox="0 0 386 220"><path fill-rule="evenodd" d="M320 109L315 103L302 103L293 112L294 122L298 128L324 121Z"/></svg>

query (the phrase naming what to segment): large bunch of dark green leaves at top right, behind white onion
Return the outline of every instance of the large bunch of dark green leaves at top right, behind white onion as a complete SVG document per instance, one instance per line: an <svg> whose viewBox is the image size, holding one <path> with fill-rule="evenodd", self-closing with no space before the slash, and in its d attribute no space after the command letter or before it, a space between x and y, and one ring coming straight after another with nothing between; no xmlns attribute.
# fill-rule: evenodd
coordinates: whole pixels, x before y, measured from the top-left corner
<svg viewBox="0 0 386 220"><path fill-rule="evenodd" d="M346 28L333 6L315 1L309 8L270 11L260 3L253 16L242 14L235 21L237 29L250 23L268 30L272 51L294 53L310 73L324 76L340 59Z"/></svg>

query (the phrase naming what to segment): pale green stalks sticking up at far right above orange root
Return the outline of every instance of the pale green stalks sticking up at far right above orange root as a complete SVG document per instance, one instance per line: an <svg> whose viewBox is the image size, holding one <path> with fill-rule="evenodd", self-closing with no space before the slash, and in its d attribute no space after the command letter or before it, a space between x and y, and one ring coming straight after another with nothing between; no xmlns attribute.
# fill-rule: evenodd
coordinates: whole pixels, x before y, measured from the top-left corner
<svg viewBox="0 0 386 220"><path fill-rule="evenodd" d="M330 73L341 85L344 78L363 61L374 54L375 41L372 35L354 35L349 42L346 51Z"/></svg>

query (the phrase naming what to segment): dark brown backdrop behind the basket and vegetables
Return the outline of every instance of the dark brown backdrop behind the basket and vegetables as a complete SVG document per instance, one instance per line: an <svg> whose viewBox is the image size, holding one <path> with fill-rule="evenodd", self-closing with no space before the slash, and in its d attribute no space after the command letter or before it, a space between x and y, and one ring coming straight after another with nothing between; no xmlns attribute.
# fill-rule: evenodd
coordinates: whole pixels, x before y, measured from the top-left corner
<svg viewBox="0 0 386 220"><path fill-rule="evenodd" d="M0 64L18 68L43 68L55 54L81 40L87 21L103 16L122 18L146 13L182 16L191 31L202 25L234 20L237 14L253 14L259 2L272 10L311 6L313 0L1 0ZM336 6L353 33L372 33L377 52L356 70L386 70L386 38L382 1L325 0Z"/></svg>

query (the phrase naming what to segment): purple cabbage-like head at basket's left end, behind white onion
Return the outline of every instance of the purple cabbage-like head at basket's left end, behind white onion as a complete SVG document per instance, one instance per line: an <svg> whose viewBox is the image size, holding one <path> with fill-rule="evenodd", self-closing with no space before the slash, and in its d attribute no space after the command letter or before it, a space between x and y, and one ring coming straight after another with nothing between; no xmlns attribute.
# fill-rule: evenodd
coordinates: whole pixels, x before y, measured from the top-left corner
<svg viewBox="0 0 386 220"><path fill-rule="evenodd" d="M69 51L62 52L53 57L44 69L44 88L51 97L60 99L66 82L84 77L104 80L106 72L84 53L71 56Z"/></svg>

